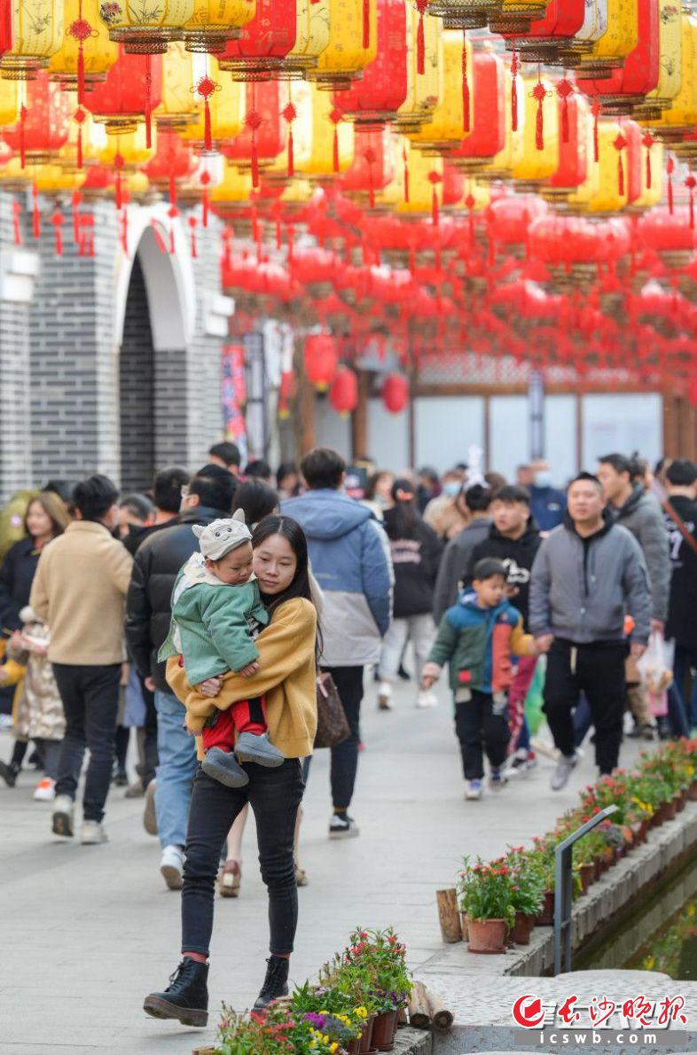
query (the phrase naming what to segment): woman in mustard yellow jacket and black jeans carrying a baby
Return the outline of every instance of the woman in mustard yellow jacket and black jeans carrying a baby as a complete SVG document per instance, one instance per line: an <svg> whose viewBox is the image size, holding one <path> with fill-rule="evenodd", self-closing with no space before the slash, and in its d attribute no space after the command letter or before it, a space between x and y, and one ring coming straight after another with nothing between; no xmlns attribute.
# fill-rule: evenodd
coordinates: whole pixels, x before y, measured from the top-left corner
<svg viewBox="0 0 697 1055"><path fill-rule="evenodd" d="M295 818L304 791L301 759L312 753L316 731L317 613L312 602L307 541L290 517L268 516L252 536L253 569L270 622L256 638L259 670L252 678L233 672L212 679L214 698L198 701L187 712L187 727L199 734L216 708L239 699L266 697L271 743L285 755L276 769L246 764L249 784L226 787L196 772L189 810L181 894L182 960L167 990L146 997L155 1018L185 1025L208 1021L208 956L220 847L232 822L249 802L256 818L262 878L269 890L270 957L254 1004L263 1009L288 993L288 965L297 924L297 885L293 855ZM168 663L167 677L186 703L191 687L178 659ZM206 683L211 686L211 683ZM200 737L198 757L202 759Z"/></svg>

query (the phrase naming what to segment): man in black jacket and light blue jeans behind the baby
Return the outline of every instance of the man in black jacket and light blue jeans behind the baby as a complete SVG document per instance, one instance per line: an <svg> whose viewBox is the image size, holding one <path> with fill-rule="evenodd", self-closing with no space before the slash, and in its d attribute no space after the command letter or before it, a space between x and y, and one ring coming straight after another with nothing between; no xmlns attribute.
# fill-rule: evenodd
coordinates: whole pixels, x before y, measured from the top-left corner
<svg viewBox="0 0 697 1055"><path fill-rule="evenodd" d="M162 846L160 871L170 889L181 889L183 846L191 786L196 769L195 741L183 728L185 710L164 676L157 652L170 631L171 597L181 565L198 549L193 524L229 517L237 483L227 469L206 465L182 490L181 512L171 528L138 548L127 598L129 652L147 688L155 693L159 765L154 791L157 835ZM152 794L148 786L149 794ZM147 806L148 812L148 806Z"/></svg>

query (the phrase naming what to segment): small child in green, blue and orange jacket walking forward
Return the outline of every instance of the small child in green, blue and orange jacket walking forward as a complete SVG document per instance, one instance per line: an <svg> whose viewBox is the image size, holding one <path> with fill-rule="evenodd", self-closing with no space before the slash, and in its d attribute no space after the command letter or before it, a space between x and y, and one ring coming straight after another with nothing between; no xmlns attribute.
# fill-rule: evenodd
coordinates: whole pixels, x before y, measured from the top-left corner
<svg viewBox="0 0 697 1055"><path fill-rule="evenodd" d="M483 751L489 760L490 787L500 790L506 783L510 657L538 651L535 638L523 633L522 615L506 598L505 564L484 557L475 565L472 589L443 616L422 678L429 689L449 663L466 799L482 798Z"/></svg>

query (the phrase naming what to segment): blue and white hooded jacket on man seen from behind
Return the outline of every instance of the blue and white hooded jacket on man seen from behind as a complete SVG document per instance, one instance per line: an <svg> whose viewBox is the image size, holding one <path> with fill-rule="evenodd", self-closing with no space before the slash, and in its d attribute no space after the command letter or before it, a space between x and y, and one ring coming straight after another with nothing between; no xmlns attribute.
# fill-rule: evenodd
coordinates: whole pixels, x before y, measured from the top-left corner
<svg viewBox="0 0 697 1055"><path fill-rule="evenodd" d="M365 505L325 487L289 498L280 509L305 531L324 594L323 664L376 663L392 616L394 581L383 528Z"/></svg>

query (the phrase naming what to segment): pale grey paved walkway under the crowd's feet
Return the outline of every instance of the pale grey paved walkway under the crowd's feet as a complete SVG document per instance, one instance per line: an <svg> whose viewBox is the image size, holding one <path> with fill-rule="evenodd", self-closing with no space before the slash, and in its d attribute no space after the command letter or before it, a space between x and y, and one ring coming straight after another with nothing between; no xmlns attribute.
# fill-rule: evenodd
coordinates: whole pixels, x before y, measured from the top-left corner
<svg viewBox="0 0 697 1055"><path fill-rule="evenodd" d="M551 795L551 763L543 759L524 781L465 803L450 705L440 692L439 708L420 711L413 688L400 687L395 710L377 713L368 687L352 807L359 839L328 841L328 752L315 756L305 801L302 863L310 885L299 890L295 980L342 947L355 924L391 923L412 966L424 964L443 947L435 890L452 885L462 855L495 855L544 831L593 779L586 753L569 788ZM11 745L0 735L2 757ZM635 753L625 745L625 761ZM82 847L52 837L51 805L32 801L34 783L33 773L22 773L14 791L0 787L0 1053L178 1055L212 1039L212 1031L141 1012L144 994L163 987L176 966L179 935L179 897L164 889L141 802L114 789L111 842ZM264 974L267 902L253 822L246 852L241 897L216 903L214 1011L224 998L249 1005Z"/></svg>

